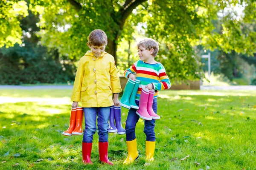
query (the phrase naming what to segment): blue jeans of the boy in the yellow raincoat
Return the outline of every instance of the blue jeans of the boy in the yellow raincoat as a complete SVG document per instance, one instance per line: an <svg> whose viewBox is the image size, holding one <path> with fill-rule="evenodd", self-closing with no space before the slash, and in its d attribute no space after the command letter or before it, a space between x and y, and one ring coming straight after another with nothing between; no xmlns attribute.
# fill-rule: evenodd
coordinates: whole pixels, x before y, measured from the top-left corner
<svg viewBox="0 0 256 170"><path fill-rule="evenodd" d="M93 142L93 135L96 132L96 115L98 116L99 142L108 142L108 120L110 107L104 108L83 108L84 110L84 137L83 142Z"/></svg>

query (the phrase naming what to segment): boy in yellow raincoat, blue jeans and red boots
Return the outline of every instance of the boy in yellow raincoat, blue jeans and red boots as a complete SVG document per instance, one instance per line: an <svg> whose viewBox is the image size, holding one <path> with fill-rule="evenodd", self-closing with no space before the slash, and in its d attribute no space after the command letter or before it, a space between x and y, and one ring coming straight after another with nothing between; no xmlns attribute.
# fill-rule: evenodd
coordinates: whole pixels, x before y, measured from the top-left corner
<svg viewBox="0 0 256 170"><path fill-rule="evenodd" d="M93 134L96 132L96 116L99 130L99 158L102 162L113 165L108 160L108 120L110 106L118 106L118 93L122 91L114 57L105 52L108 37L102 30L94 30L88 37L90 51L80 59L72 91L72 108L82 103L85 129L82 142L84 164L90 160ZM112 96L114 98L112 100Z"/></svg>

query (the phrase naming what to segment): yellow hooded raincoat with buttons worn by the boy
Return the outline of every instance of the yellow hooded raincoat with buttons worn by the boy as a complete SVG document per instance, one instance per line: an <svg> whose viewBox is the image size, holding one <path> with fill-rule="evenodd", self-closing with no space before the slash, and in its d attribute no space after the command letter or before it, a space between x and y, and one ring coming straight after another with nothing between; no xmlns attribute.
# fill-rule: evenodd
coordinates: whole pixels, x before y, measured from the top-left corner
<svg viewBox="0 0 256 170"><path fill-rule="evenodd" d="M113 93L122 91L114 57L104 52L95 57L91 51L80 59L71 100L83 108L114 105Z"/></svg>

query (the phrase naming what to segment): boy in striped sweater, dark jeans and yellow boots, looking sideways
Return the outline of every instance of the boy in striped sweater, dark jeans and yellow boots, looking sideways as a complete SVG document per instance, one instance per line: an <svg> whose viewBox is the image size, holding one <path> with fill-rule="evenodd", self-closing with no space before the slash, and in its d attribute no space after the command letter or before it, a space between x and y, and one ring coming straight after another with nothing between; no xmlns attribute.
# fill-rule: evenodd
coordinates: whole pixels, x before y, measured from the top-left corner
<svg viewBox="0 0 256 170"><path fill-rule="evenodd" d="M140 60L125 70L124 76L127 79L135 80L137 78L137 80L140 80L140 85L135 98L137 105L139 105L140 94L142 91L155 91L152 108L154 113L157 113L158 90L169 89L171 87L171 83L166 75L163 65L154 60L159 50L158 43L151 38L147 38L137 44L137 49ZM137 74L137 77L134 76L134 73ZM130 108L126 120L125 130L128 156L125 159L124 164L133 162L139 156L137 151L135 127L140 116L136 111L137 109ZM146 161L153 161L155 149L155 119L145 120L144 125L144 133L146 135Z"/></svg>

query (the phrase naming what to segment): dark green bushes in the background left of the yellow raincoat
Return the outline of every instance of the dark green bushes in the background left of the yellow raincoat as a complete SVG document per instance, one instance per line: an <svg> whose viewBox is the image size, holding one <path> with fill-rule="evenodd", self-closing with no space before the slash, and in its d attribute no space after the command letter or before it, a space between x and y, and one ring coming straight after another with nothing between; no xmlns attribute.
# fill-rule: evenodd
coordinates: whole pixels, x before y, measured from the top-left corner
<svg viewBox="0 0 256 170"><path fill-rule="evenodd" d="M61 64L45 47L25 42L25 47L15 45L1 48L0 84L20 85L36 83L67 83L73 81L73 63ZM56 51L55 54L58 55ZM67 60L68 61L68 60Z"/></svg>

